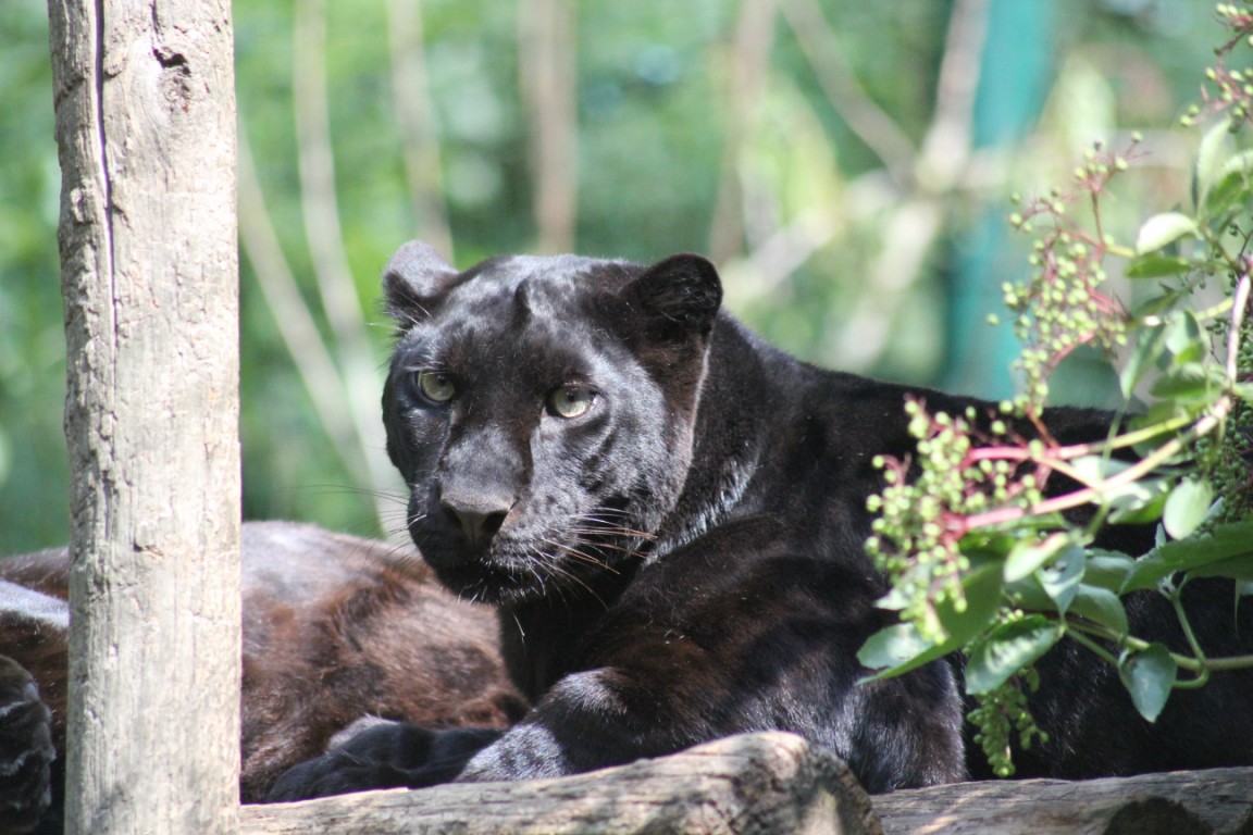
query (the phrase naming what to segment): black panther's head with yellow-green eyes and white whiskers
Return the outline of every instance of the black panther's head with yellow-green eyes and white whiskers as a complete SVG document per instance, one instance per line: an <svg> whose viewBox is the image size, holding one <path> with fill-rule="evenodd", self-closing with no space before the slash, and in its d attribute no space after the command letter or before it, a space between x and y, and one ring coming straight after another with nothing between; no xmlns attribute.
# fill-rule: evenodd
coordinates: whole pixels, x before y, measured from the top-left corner
<svg viewBox="0 0 1253 835"><path fill-rule="evenodd" d="M692 463L713 265L504 257L459 273L411 242L383 285L400 328L387 452L441 581L520 602L645 556Z"/></svg>

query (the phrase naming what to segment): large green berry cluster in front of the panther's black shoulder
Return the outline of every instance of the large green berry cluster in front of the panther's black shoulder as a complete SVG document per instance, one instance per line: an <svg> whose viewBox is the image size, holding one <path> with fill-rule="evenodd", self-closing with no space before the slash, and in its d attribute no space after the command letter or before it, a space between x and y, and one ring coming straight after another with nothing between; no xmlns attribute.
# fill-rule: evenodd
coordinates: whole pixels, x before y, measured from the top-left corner
<svg viewBox="0 0 1253 835"><path fill-rule="evenodd" d="M941 641L947 636L937 606L947 601L957 612L966 606L961 580L970 560L960 546L971 520L992 508L1037 502L1039 478L1024 468L1019 441L991 446L1006 444L1004 421L989 417L979 428L974 408L960 417L931 414L915 399L905 409L917 457L875 458L886 486L867 501L877 518L866 551L892 578L893 593L885 605L900 608L923 638ZM1000 456L999 449L1014 454Z"/></svg>

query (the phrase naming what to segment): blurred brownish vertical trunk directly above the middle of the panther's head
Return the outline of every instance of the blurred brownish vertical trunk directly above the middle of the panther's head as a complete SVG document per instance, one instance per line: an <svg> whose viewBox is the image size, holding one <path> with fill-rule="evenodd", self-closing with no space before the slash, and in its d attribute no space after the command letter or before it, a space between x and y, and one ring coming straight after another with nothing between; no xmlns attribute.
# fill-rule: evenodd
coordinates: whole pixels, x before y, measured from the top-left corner
<svg viewBox="0 0 1253 835"><path fill-rule="evenodd" d="M519 78L530 134L536 248L571 252L575 244L579 159L575 98L574 4L524 0L517 8Z"/></svg>

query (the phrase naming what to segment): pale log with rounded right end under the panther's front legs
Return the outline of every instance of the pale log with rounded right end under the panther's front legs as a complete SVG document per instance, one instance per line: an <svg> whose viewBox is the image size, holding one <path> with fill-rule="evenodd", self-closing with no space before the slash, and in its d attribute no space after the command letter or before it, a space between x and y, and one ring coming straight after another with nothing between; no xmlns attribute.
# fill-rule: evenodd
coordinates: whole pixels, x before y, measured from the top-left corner
<svg viewBox="0 0 1253 835"><path fill-rule="evenodd" d="M882 831L848 766L782 732L556 780L370 791L241 811L247 835Z"/></svg>

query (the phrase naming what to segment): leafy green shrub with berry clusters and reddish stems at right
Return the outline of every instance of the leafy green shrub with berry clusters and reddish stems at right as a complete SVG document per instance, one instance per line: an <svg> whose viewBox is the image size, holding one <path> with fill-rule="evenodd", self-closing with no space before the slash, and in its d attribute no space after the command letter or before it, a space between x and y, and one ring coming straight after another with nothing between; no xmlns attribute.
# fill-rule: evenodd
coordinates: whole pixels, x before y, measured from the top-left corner
<svg viewBox="0 0 1253 835"><path fill-rule="evenodd" d="M1219 5L1218 16L1230 38L1203 103L1184 118L1215 123L1199 141L1189 205L1119 243L1104 207L1140 155L1139 139L1119 153L1096 144L1071 190L1010 217L1036 235L1030 279L1004 288L1025 341L1022 393L995 414L912 402L916 456L877 462L886 487L871 499L868 550L893 581L881 605L902 623L861 658L885 676L965 651L966 690L979 702L971 719L999 774L1012 772L1015 729L1024 747L1040 735L1025 710L1025 692L1039 686L1031 665L1064 637L1114 665L1149 721L1173 690L1253 667L1253 657L1207 656L1183 606L1184 587L1200 577L1253 591L1253 73L1229 65L1253 46L1253 8ZM1124 307L1106 290L1111 262L1152 293ZM1203 305L1215 283L1223 298ZM1049 379L1083 346L1123 349L1128 404L1105 439L1064 443L1045 427ZM1154 522L1146 553L1094 545L1103 526ZM1172 602L1187 652L1130 633L1124 600L1136 592Z"/></svg>

